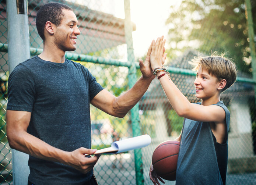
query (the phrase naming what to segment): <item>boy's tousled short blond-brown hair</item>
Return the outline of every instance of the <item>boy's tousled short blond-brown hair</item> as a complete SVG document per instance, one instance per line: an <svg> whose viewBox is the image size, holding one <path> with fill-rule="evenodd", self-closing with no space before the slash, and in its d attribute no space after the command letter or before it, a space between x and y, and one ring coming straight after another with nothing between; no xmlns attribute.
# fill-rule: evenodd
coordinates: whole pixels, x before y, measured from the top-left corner
<svg viewBox="0 0 256 185"><path fill-rule="evenodd" d="M228 89L236 80L236 65L230 58L225 58L225 54L218 56L216 52L208 57L194 57L189 63L192 65L192 70L197 71L200 67L207 70L209 74L217 77L217 81L222 79L227 81L226 86L221 92Z"/></svg>

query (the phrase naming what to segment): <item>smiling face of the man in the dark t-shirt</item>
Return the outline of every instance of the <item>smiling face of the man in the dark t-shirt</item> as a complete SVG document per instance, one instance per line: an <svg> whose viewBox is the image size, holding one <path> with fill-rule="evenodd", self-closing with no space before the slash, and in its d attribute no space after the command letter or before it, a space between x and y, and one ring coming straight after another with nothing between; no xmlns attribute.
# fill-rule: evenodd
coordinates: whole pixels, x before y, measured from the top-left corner
<svg viewBox="0 0 256 185"><path fill-rule="evenodd" d="M77 35L80 35L77 17L71 10L64 9L62 12L64 17L61 24L56 27L54 44L63 51L74 51Z"/></svg>

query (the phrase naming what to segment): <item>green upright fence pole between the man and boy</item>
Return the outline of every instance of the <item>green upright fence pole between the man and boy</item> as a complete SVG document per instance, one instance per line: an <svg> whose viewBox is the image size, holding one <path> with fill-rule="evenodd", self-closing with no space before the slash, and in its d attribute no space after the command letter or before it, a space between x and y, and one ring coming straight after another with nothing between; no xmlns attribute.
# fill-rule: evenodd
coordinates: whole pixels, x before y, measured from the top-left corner
<svg viewBox="0 0 256 185"><path fill-rule="evenodd" d="M135 57L133 53L133 39L132 39L132 24L131 24L131 15L130 15L130 1L124 0L125 5L125 39L127 44L127 54L128 61L131 63L129 67L129 88L131 88L136 82L136 64ZM131 125L133 130L133 136L141 135L140 129L140 119L138 116L139 107L136 104L131 109ZM136 172L136 184L143 185L144 177L143 177L143 161L142 161L142 152L141 149L134 150L135 157L135 172Z"/></svg>

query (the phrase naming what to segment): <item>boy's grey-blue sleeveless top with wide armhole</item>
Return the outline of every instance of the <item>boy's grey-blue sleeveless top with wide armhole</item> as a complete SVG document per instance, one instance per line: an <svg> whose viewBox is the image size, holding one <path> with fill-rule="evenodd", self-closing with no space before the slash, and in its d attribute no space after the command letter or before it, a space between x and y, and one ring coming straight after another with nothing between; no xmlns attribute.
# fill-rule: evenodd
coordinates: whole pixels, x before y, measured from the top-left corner
<svg viewBox="0 0 256 185"><path fill-rule="evenodd" d="M200 103L198 103L200 104ZM227 133L230 113L222 101L215 104L226 113ZM225 185L228 138L216 142L209 122L184 119L176 171L176 185Z"/></svg>

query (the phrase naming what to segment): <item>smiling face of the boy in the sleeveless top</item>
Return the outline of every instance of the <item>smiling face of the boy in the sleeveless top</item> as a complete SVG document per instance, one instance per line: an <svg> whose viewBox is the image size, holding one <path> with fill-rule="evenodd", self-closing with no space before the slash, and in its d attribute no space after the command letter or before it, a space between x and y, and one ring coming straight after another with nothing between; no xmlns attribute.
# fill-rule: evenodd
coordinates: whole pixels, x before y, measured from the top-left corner
<svg viewBox="0 0 256 185"><path fill-rule="evenodd" d="M197 70L196 79L194 81L196 88L196 97L202 100L211 99L218 95L218 81L217 77L208 73L202 67Z"/></svg>

